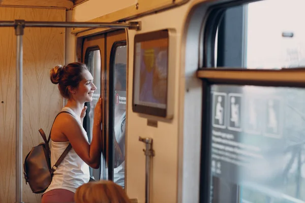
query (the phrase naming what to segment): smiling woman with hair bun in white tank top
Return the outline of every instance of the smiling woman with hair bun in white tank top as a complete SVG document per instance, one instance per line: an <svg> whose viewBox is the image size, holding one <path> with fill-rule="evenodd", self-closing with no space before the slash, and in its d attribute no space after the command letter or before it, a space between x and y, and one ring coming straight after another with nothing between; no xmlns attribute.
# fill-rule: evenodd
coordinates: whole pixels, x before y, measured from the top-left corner
<svg viewBox="0 0 305 203"><path fill-rule="evenodd" d="M68 99L62 113L51 129L51 165L54 165L69 143L72 149L54 172L52 182L42 196L42 202L73 202L76 189L88 183L89 166L99 168L102 152L102 99L94 112L93 138L89 144L82 126L85 102L93 100L97 89L93 77L83 63L57 65L50 71L53 84L58 84L60 94Z"/></svg>

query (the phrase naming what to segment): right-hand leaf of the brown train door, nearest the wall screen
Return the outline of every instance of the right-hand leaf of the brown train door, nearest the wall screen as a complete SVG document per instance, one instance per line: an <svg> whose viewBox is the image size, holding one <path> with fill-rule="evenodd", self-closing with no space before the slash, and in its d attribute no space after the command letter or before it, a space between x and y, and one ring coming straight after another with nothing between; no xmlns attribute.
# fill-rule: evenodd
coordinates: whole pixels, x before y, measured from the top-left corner
<svg viewBox="0 0 305 203"><path fill-rule="evenodd" d="M125 30L107 33L108 179L125 188L127 44Z"/></svg>

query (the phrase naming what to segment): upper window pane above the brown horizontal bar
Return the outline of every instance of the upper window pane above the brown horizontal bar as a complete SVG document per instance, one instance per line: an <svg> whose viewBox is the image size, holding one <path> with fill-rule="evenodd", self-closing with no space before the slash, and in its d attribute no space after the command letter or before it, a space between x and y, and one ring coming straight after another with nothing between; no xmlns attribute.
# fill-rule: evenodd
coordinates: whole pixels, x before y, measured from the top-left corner
<svg viewBox="0 0 305 203"><path fill-rule="evenodd" d="M305 66L304 7L303 0L265 0L228 8L218 26L215 66Z"/></svg>

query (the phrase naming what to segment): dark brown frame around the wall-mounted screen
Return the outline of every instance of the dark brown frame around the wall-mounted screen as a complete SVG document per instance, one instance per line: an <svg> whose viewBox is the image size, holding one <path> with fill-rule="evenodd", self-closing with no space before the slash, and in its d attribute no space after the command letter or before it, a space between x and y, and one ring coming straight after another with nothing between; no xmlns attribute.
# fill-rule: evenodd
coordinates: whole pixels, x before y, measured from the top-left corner
<svg viewBox="0 0 305 203"><path fill-rule="evenodd" d="M168 29L162 29L162 30L157 30L157 31L152 31L152 32L146 32L146 33L140 33L138 35L135 35L134 38L134 62L133 62L133 92L132 92L132 110L133 112L136 113L141 113L141 114L148 114L152 116L158 116L158 117L167 117L168 114L168 106L169 106L169 30ZM135 104L135 77L136 77L136 44L139 42L145 42L145 41L153 41L153 40L159 40L159 39L167 39L168 45L167 45L167 84L166 84L166 107L165 109L163 108L158 108L158 107L150 107L150 106L145 106L145 105L140 105L140 104Z"/></svg>

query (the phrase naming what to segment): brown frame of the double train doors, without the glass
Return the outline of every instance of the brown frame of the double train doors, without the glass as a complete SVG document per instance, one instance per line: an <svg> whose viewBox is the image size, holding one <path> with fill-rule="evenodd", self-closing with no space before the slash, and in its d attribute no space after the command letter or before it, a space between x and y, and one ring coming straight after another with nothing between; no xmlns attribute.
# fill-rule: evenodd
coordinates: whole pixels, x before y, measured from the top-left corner
<svg viewBox="0 0 305 203"><path fill-rule="evenodd" d="M100 50L101 53L101 95L104 98L104 103L102 104L102 109L104 111L104 116L102 119L103 122L103 154L105 157L105 165L104 165L104 175L103 179L112 180L113 181L113 154L114 147L113 142L111 144L110 141L113 140L113 121L110 120L113 117L113 114L109 111L109 108L112 106L110 103L113 103L112 93L113 87L110 87L111 82L113 81L113 47L118 43L125 43L128 46L127 41L127 30L126 29L118 29L111 30L110 32L105 33L97 33L94 36L82 36L76 39L76 59L78 61L87 62L86 55L88 51ZM128 97L128 49L127 49L127 64L126 64L126 92ZM110 60L111 59L111 60ZM112 77L112 78L111 78ZM127 99L128 100L128 99ZM126 103L126 117L128 116L128 101ZM111 134L110 134L111 133ZM127 119L126 119L126 133L125 133L125 163L127 162ZM110 158L111 157L111 158ZM112 165L111 167L110 164ZM101 163L102 166L102 163ZM100 166L100 174L102 173L102 168ZM106 173L108 172L108 176ZM126 167L125 167L125 187L126 190Z"/></svg>

